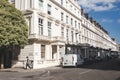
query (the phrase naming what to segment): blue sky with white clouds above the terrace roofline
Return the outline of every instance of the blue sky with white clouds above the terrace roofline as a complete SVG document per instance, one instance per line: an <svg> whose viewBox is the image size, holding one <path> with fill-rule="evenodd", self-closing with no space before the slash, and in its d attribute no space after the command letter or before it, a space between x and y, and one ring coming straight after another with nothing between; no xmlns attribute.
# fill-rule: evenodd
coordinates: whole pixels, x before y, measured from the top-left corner
<svg viewBox="0 0 120 80"><path fill-rule="evenodd" d="M78 3L120 44L120 0L78 0Z"/></svg>

